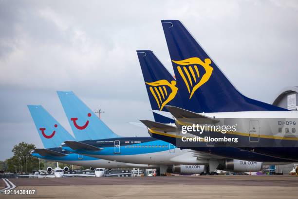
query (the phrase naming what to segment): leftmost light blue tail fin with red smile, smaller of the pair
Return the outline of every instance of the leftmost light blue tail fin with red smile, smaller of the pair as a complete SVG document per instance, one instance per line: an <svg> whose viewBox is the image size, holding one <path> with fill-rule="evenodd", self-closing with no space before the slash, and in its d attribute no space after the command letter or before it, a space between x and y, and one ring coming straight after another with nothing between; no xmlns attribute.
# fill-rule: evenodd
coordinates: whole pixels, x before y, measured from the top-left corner
<svg viewBox="0 0 298 199"><path fill-rule="evenodd" d="M59 147L65 140L74 140L63 126L42 106L28 105L44 148Z"/></svg>

